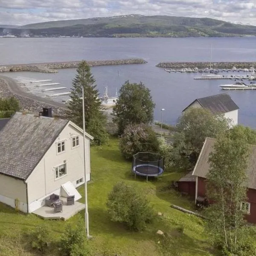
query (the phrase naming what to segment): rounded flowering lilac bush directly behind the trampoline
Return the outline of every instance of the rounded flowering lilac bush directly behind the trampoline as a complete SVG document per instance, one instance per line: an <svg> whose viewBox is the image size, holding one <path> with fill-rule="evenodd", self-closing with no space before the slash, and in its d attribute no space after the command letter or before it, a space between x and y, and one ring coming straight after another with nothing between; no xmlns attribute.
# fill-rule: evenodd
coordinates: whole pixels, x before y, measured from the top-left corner
<svg viewBox="0 0 256 256"><path fill-rule="evenodd" d="M123 157L131 160L132 156L140 151L158 152L159 141L150 126L128 125L120 137L119 146Z"/></svg>

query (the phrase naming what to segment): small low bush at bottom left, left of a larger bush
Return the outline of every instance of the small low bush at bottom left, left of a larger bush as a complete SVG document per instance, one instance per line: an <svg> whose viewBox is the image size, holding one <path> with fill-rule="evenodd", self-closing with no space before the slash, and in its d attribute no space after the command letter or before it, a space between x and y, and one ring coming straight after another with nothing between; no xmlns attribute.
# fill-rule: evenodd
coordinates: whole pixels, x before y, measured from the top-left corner
<svg viewBox="0 0 256 256"><path fill-rule="evenodd" d="M29 233L29 244L33 250L46 254L49 249L50 229L48 226L36 227Z"/></svg>

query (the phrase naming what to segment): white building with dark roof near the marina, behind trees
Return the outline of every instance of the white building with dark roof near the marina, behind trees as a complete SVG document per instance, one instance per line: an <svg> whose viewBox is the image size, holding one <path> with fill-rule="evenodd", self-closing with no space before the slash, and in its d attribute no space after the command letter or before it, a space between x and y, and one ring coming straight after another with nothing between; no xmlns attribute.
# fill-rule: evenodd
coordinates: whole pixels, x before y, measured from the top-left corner
<svg viewBox="0 0 256 256"><path fill-rule="evenodd" d="M231 126L238 124L239 107L227 93L195 99L182 112L189 108L206 108L213 114L221 113L226 118L231 119Z"/></svg>

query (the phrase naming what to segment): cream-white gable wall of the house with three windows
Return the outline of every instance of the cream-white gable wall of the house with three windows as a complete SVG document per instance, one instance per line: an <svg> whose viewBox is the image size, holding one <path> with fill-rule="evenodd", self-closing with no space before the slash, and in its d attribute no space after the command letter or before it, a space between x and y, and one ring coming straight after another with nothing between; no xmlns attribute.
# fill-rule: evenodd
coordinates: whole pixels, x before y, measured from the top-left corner
<svg viewBox="0 0 256 256"><path fill-rule="evenodd" d="M72 149L72 137L79 136L79 146ZM57 154L57 143L65 141L65 151ZM55 167L66 161L67 175L55 179ZM90 139L86 138L86 173L90 180ZM76 184L76 180L83 182ZM32 174L26 180L28 184L29 212L44 205L44 198L52 193L60 193L61 185L71 181L75 187L84 183L84 148L83 135L80 131L67 125L55 140L47 153L38 163Z"/></svg>

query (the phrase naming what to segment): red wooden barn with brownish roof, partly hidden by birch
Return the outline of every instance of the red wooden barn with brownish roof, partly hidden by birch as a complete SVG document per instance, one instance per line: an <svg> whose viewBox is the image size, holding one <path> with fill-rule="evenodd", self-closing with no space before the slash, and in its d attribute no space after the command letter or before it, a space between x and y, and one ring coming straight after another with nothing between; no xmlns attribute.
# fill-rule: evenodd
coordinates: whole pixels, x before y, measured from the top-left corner
<svg viewBox="0 0 256 256"><path fill-rule="evenodd" d="M209 154L213 150L215 139L206 138L192 175L195 176L195 202L206 195L206 175L209 171ZM247 169L247 201L241 202L241 207L247 211L245 218L250 223L256 223L256 146L251 146Z"/></svg>

